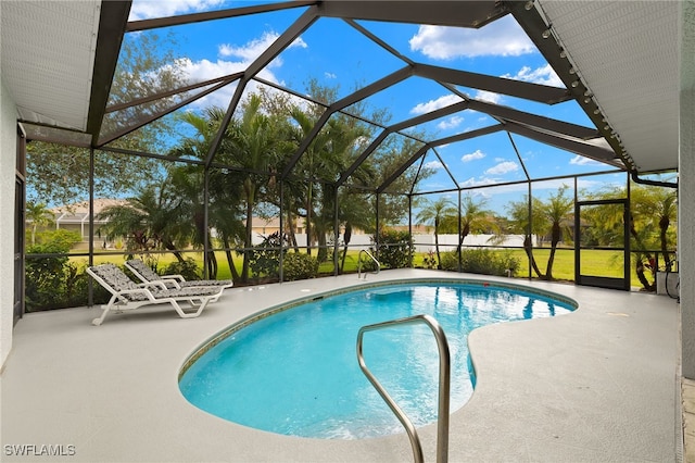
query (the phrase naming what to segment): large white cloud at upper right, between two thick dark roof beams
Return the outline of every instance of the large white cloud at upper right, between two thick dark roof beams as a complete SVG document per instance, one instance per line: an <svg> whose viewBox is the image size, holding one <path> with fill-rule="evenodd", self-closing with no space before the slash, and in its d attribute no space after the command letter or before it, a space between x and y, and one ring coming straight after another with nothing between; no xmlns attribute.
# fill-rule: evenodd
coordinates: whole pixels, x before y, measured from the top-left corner
<svg viewBox="0 0 695 463"><path fill-rule="evenodd" d="M533 53L535 47L521 27L507 15L481 29L420 26L409 40L410 50L435 60L466 57L518 57Z"/></svg>

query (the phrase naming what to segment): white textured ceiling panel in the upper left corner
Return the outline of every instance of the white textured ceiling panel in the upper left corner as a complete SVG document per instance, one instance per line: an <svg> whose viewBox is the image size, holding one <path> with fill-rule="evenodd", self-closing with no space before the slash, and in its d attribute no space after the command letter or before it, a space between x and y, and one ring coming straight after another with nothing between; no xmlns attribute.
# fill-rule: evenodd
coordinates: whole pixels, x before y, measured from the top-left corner
<svg viewBox="0 0 695 463"><path fill-rule="evenodd" d="M2 82L24 120L86 129L101 1L2 1Z"/></svg>

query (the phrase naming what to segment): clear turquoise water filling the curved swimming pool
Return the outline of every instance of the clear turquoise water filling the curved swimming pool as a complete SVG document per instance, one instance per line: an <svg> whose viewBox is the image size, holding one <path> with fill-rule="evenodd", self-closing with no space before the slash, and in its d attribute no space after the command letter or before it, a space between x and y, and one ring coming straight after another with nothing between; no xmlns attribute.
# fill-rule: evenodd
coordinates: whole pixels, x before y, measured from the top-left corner
<svg viewBox="0 0 695 463"><path fill-rule="evenodd" d="M429 314L451 350L451 411L469 399L473 380L468 334L498 322L572 311L567 300L492 285L389 285L343 292L278 311L230 329L181 375L195 406L278 434L358 439L403 431L359 370L364 325ZM437 342L425 325L370 331L366 364L415 426L437 421Z"/></svg>

